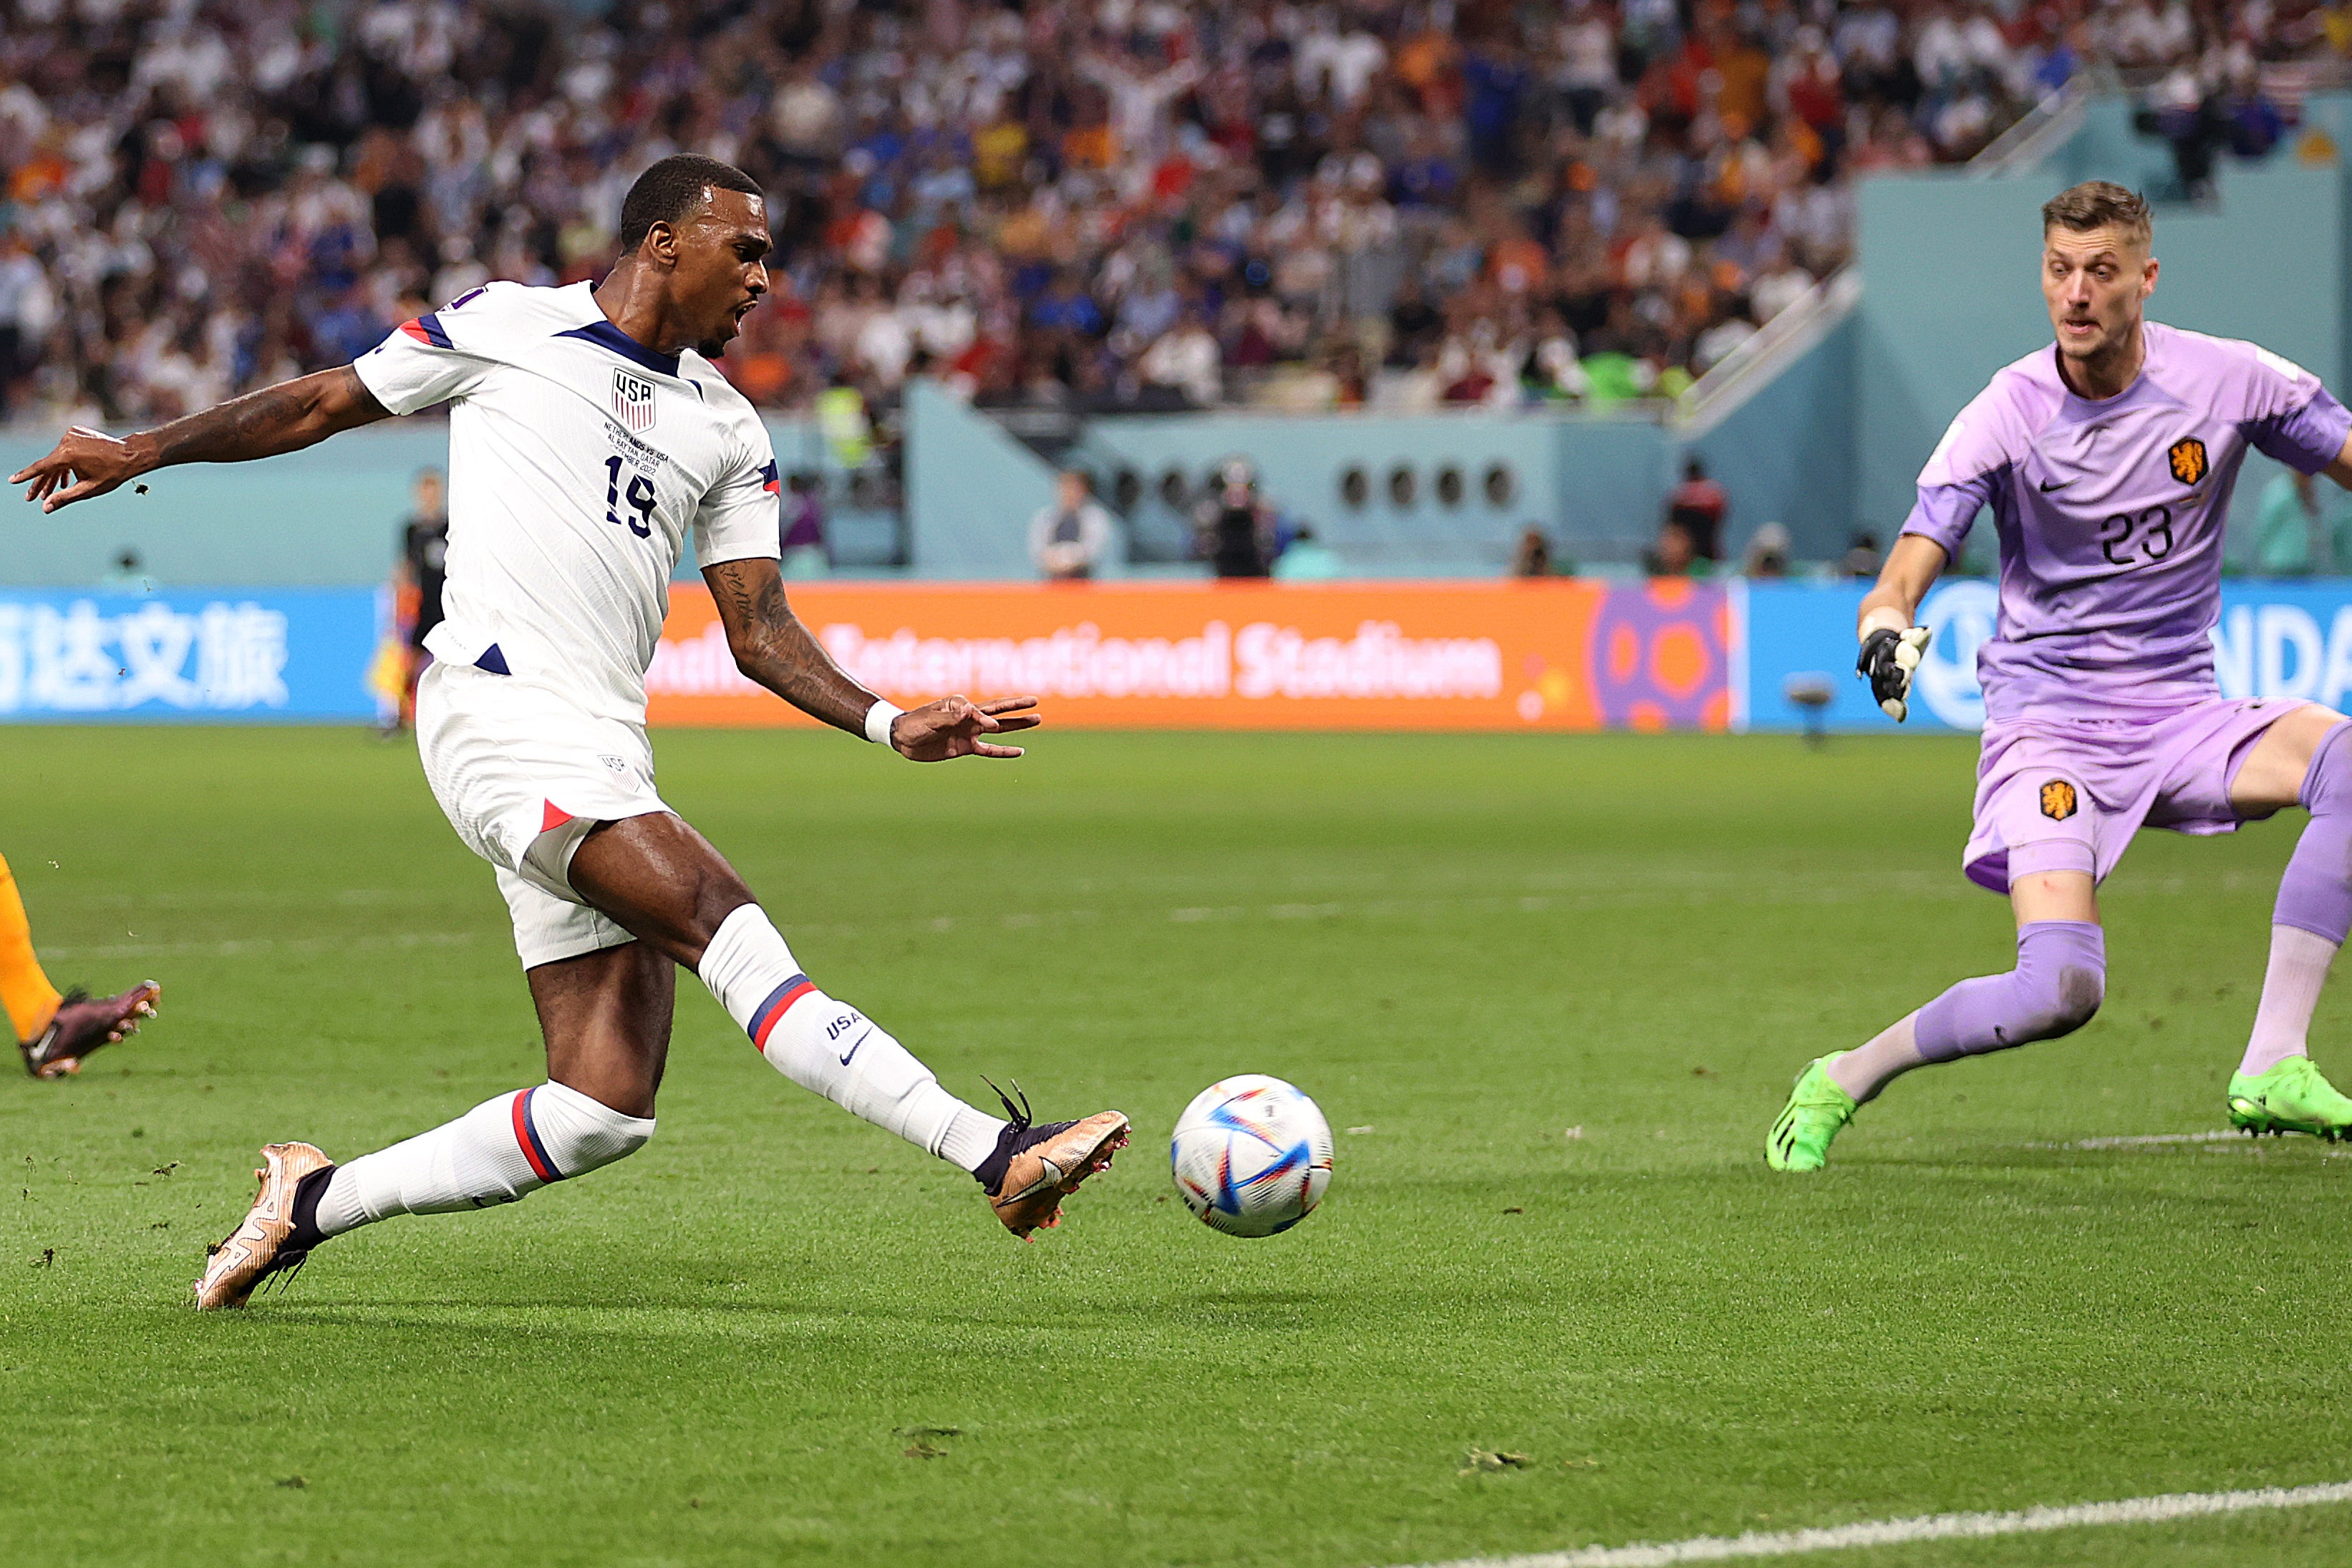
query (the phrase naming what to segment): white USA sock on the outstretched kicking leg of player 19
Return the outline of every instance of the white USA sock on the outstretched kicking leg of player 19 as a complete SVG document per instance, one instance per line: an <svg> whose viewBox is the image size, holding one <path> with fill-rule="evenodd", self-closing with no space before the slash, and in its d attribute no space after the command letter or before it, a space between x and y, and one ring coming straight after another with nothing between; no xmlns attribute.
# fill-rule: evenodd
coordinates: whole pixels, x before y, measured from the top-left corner
<svg viewBox="0 0 2352 1568"><path fill-rule="evenodd" d="M967 1171L995 1152L1004 1124L941 1088L854 1006L816 990L760 905L720 922L699 973L769 1067L802 1088Z"/></svg>

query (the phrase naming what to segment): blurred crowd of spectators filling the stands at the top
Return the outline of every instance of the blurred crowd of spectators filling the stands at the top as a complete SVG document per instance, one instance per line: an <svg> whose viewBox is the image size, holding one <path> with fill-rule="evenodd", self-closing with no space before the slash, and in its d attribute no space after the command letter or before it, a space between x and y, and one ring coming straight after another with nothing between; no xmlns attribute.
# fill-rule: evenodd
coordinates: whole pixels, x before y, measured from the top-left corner
<svg viewBox="0 0 2352 1568"><path fill-rule="evenodd" d="M724 371L851 456L990 404L1677 395L2091 61L2173 101L2303 0L0 0L0 400L155 421L489 277L701 150L771 193ZM2176 108L2178 108L2176 103Z"/></svg>

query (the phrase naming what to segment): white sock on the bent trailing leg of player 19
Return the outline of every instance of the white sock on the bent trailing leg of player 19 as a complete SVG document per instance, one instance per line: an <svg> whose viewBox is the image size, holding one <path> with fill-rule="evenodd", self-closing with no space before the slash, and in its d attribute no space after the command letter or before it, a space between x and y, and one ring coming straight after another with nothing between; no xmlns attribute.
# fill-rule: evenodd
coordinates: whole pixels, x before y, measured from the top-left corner
<svg viewBox="0 0 2352 1568"><path fill-rule="evenodd" d="M395 1213L513 1204L527 1192L635 1154L652 1117L623 1117L562 1084L482 1100L456 1121L334 1168L318 1227L336 1237Z"/></svg>

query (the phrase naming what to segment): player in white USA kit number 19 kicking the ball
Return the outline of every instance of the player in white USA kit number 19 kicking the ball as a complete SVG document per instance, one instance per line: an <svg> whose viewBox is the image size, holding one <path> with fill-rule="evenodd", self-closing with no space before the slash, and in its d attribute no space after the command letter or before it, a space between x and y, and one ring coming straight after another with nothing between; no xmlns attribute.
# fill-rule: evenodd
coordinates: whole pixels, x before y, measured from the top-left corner
<svg viewBox="0 0 2352 1568"><path fill-rule="evenodd" d="M548 1081L334 1164L273 1143L261 1194L212 1251L198 1307L238 1307L325 1239L397 1213L510 1204L644 1147L677 964L804 1088L971 1171L1016 1237L1127 1143L1127 1117L1035 1126L964 1105L896 1039L826 997L734 867L663 804L644 668L691 531L741 670L917 762L1018 757L1035 698L891 708L786 607L776 458L710 367L767 294L767 207L710 158L656 162L621 207L602 284L494 282L405 322L343 369L115 440L71 430L19 473L56 510L172 463L294 451L449 404L447 618L416 696L426 778L496 867ZM1002 1095L1000 1095L1002 1098Z"/></svg>

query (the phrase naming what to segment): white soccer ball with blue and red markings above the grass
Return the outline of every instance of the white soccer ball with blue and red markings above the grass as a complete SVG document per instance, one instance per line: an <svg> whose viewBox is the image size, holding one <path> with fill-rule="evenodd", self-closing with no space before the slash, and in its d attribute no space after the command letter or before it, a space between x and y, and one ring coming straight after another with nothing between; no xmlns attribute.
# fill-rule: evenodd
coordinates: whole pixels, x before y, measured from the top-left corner
<svg viewBox="0 0 2352 1568"><path fill-rule="evenodd" d="M1331 1124L1263 1072L1218 1079L1176 1117L1176 1194L1209 1229L1272 1237L1315 1213L1331 1185Z"/></svg>

